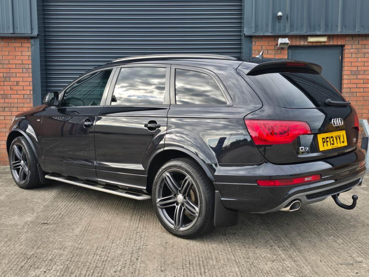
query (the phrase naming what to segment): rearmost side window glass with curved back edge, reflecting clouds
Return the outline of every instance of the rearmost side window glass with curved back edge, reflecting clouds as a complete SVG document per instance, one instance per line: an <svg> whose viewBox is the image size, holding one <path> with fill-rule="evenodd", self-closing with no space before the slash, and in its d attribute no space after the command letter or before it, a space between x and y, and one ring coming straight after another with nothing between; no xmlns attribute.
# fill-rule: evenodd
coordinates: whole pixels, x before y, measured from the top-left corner
<svg viewBox="0 0 369 277"><path fill-rule="evenodd" d="M176 69L176 104L225 105L227 101L211 76L197 71Z"/></svg>

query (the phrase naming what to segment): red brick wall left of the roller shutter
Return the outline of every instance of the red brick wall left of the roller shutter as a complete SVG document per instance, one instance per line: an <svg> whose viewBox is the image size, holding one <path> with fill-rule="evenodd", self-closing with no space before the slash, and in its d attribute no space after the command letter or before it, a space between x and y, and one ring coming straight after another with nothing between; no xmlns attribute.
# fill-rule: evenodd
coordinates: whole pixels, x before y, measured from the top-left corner
<svg viewBox="0 0 369 277"><path fill-rule="evenodd" d="M31 40L0 37L0 165L8 164L11 119L32 106Z"/></svg>

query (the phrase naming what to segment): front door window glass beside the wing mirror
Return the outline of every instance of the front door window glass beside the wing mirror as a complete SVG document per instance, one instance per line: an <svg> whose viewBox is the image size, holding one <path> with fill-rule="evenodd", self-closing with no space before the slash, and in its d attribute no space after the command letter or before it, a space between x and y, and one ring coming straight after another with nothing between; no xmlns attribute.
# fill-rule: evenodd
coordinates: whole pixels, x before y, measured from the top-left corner
<svg viewBox="0 0 369 277"><path fill-rule="evenodd" d="M73 83L64 92L62 107L98 106L112 69L91 73Z"/></svg>

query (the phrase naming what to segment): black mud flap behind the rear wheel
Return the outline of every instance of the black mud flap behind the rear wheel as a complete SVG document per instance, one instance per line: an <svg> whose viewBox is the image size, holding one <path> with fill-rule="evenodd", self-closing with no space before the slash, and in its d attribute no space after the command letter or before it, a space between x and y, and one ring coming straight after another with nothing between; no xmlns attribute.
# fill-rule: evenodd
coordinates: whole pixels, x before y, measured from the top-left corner
<svg viewBox="0 0 369 277"><path fill-rule="evenodd" d="M219 191L215 191L215 209L214 209L214 226L229 227L236 225L238 221L238 212L230 211L221 203Z"/></svg>

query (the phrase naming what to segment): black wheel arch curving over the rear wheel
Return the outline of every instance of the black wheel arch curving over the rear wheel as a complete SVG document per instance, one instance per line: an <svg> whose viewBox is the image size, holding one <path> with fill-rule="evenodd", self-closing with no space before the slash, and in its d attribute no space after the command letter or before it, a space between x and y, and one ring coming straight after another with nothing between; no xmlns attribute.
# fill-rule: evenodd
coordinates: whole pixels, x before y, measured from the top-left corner
<svg viewBox="0 0 369 277"><path fill-rule="evenodd" d="M154 182L155 175L159 168L167 161L175 158L190 158L194 160L204 170L210 181L214 182L213 174L211 174L204 161L202 161L195 153L181 147L171 146L163 148L161 151L158 151L153 157L151 157L146 171L146 190L148 192L151 192L152 183Z"/></svg>

